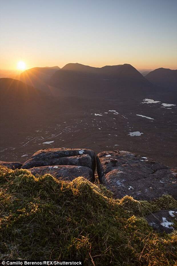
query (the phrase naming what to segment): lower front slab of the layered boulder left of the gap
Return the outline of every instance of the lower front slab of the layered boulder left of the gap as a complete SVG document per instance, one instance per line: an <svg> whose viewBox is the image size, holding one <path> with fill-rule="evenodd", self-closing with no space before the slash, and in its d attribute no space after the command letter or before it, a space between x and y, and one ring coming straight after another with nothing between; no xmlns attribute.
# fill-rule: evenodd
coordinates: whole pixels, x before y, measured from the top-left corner
<svg viewBox="0 0 177 266"><path fill-rule="evenodd" d="M44 175L50 173L57 179L72 181L76 177L82 176L89 181L94 181L94 172L89 167L74 165L55 165L33 167L28 169L33 175Z"/></svg>

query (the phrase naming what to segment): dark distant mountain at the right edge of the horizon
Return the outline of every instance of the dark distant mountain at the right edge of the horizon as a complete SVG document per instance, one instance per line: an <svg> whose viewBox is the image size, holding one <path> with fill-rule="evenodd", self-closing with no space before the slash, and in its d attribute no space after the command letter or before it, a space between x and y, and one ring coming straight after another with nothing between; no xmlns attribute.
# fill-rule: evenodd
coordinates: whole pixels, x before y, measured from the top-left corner
<svg viewBox="0 0 177 266"><path fill-rule="evenodd" d="M154 85L177 88L177 70L158 68L145 76Z"/></svg>

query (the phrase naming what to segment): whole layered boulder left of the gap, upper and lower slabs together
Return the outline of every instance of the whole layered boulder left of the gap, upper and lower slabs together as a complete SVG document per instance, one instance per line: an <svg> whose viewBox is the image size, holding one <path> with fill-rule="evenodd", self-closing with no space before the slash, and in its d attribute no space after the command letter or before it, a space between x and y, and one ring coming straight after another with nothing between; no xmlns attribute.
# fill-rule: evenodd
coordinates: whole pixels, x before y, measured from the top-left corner
<svg viewBox="0 0 177 266"><path fill-rule="evenodd" d="M89 149L43 149L34 153L22 168L33 175L51 173L57 178L72 181L83 176L94 181L95 153Z"/></svg>

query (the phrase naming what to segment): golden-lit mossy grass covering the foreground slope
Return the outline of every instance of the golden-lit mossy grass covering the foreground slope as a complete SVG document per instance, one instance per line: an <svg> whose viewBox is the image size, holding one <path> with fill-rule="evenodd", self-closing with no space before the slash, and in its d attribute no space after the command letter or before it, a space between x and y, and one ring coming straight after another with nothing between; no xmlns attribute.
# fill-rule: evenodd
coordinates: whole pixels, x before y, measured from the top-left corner
<svg viewBox="0 0 177 266"><path fill-rule="evenodd" d="M1 259L83 259L85 265L175 265L177 234L155 233L144 215L177 207L112 198L83 177L59 181L47 174L0 168Z"/></svg>

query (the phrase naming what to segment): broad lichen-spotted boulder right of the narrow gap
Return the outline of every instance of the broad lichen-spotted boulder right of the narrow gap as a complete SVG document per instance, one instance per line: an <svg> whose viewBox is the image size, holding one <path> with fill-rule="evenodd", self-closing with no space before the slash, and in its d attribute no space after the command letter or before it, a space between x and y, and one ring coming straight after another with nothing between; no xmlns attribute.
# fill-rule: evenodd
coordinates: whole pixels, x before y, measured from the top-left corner
<svg viewBox="0 0 177 266"><path fill-rule="evenodd" d="M153 200L163 194L177 199L176 171L153 159L127 151L105 151L96 157L100 183L114 193L137 200Z"/></svg>

